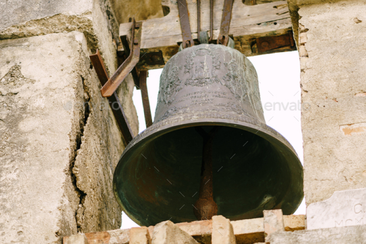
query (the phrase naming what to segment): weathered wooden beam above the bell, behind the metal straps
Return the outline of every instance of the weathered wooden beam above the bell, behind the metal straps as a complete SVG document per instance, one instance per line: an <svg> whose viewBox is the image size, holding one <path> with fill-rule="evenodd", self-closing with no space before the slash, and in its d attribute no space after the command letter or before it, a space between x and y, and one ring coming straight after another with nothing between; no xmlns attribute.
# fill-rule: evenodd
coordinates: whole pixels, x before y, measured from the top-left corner
<svg viewBox="0 0 366 244"><path fill-rule="evenodd" d="M177 2L179 3L179 0ZM178 44L182 42L182 31L177 2L162 0L163 6L168 7L170 10L169 14L163 18L143 21L140 57L153 52L161 52L163 61L166 63L178 52ZM224 0L214 0L213 40L217 39L220 32L223 4ZM196 0L187 0L187 5L192 37L197 39ZM209 1L201 1L201 30L209 30L209 26ZM131 23L122 23L120 25L120 36L129 36L130 29ZM229 35L235 41L235 49L245 56L263 54L259 53L256 47L257 38L284 35L290 30L292 30L292 25L286 0L251 6L245 5L242 0L234 1ZM294 48L280 47L265 53L291 50L294 50ZM122 45L119 45L118 51L119 53L123 52ZM147 64L143 61L137 65L139 70L156 69L163 66L163 63Z"/></svg>

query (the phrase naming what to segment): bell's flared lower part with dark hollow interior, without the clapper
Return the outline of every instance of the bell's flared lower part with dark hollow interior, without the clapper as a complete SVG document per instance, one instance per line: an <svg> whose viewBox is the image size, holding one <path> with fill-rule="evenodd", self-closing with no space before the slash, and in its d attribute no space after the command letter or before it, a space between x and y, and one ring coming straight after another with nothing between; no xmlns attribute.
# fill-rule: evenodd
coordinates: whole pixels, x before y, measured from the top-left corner
<svg viewBox="0 0 366 244"><path fill-rule="evenodd" d="M113 188L137 224L197 221L203 139L195 126L220 126L213 142L213 197L230 220L263 217L263 210L292 214L303 193L303 168L286 139L251 118L172 116L130 142L115 169Z"/></svg>

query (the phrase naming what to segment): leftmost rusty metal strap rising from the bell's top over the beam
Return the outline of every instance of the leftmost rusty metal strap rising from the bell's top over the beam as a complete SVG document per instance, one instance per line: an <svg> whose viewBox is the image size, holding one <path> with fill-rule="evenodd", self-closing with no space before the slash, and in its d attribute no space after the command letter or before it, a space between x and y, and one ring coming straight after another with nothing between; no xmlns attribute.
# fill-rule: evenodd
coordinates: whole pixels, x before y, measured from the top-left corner
<svg viewBox="0 0 366 244"><path fill-rule="evenodd" d="M186 0L178 1L178 12L182 29L182 38L183 38L182 47L186 48L194 46L194 41L192 39L192 33L191 33L191 26L189 25L188 8Z"/></svg>

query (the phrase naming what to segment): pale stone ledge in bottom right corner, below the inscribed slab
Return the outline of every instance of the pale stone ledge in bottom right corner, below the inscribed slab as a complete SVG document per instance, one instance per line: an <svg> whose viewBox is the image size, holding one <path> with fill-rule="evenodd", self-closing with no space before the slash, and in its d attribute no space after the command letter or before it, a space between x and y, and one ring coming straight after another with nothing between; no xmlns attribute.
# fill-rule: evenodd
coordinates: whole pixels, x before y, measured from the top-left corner
<svg viewBox="0 0 366 244"><path fill-rule="evenodd" d="M270 244L355 244L365 240L366 225L276 232L269 238Z"/></svg>

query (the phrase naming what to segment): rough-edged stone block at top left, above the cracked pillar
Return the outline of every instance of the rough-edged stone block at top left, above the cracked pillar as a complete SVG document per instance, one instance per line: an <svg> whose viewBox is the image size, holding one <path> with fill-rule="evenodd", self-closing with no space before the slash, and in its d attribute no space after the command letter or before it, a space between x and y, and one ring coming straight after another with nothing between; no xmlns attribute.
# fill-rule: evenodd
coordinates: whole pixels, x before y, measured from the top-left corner
<svg viewBox="0 0 366 244"><path fill-rule="evenodd" d="M109 0L0 2L0 40L80 31L92 53L99 49L106 68L117 68L118 22Z"/></svg>

